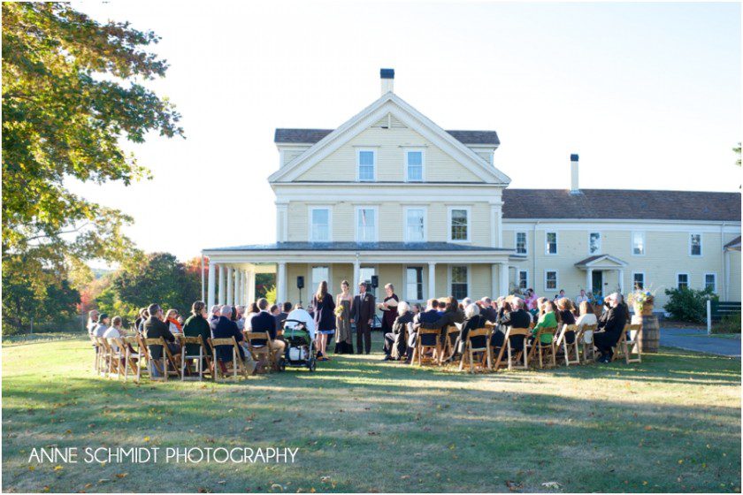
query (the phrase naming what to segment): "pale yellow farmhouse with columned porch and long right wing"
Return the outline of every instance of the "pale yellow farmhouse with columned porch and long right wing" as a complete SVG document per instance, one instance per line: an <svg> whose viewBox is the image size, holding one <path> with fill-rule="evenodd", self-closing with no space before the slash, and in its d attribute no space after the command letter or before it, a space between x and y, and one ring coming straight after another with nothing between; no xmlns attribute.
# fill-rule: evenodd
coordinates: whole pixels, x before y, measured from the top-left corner
<svg viewBox="0 0 743 495"><path fill-rule="evenodd" d="M276 242L205 249L210 306L254 300L259 272L294 302L372 275L410 302L632 286L740 301L740 194L580 189L577 155L570 189L510 189L494 131L444 130L380 75L379 99L337 129L276 130Z"/></svg>

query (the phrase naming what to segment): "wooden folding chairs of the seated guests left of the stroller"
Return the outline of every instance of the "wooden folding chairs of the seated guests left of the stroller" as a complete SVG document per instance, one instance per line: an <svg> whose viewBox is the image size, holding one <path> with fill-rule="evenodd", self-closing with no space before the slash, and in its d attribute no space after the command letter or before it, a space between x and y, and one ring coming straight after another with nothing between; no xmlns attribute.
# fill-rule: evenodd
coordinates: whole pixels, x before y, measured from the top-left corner
<svg viewBox="0 0 743 495"><path fill-rule="evenodd" d="M243 336L247 343L247 352L253 359L266 360L274 364L271 337L268 332L243 331ZM99 376L123 378L125 382L131 376L136 383L139 383L142 377L163 381L167 381L169 377L180 377L182 381L189 379L201 381L207 375L218 381L249 376L240 357L239 344L234 337L206 339L206 342L201 336L176 335L176 338L180 343L180 353L174 354L162 337L147 339L136 332L133 336L121 338L91 336L96 350L93 370ZM160 347L162 356L154 359L149 347ZM194 352L194 347L198 349L197 353ZM218 359L219 347L229 347L232 350L230 361ZM192 369L191 364L194 362L195 369Z"/></svg>

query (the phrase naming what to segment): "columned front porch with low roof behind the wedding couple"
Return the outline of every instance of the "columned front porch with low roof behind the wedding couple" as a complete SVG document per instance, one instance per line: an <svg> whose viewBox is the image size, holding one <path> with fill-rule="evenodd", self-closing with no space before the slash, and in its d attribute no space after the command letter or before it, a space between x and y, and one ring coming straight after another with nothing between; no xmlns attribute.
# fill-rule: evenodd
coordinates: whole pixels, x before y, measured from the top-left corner
<svg viewBox="0 0 743 495"><path fill-rule="evenodd" d="M351 292L372 275L381 287L392 283L401 299L417 302L454 293L460 298L498 296L509 292L509 255L512 249L473 247L447 242L308 243L205 249L209 258L205 299L213 304L255 301L256 274L275 273L277 301L311 299L319 280L331 293L348 280ZM303 278L303 288L298 278Z"/></svg>

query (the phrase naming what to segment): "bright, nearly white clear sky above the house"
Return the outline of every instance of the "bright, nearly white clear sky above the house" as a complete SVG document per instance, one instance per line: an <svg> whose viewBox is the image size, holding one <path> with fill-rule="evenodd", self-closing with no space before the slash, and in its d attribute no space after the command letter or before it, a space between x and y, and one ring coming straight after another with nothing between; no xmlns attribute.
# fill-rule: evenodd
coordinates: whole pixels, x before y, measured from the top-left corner
<svg viewBox="0 0 743 495"><path fill-rule="evenodd" d="M78 2L162 37L147 86L186 139L125 143L154 179L70 182L147 252L275 240L276 127L335 128L394 92L445 129L495 130L509 187L738 191L740 5Z"/></svg>

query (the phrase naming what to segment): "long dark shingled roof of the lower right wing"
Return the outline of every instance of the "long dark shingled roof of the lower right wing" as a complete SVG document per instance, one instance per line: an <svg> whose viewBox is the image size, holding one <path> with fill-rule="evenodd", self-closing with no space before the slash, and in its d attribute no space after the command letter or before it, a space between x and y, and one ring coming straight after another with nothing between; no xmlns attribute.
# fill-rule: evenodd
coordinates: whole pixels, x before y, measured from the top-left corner
<svg viewBox="0 0 743 495"><path fill-rule="evenodd" d="M630 189L503 190L505 219L616 218L633 220L740 221L739 193Z"/></svg>

